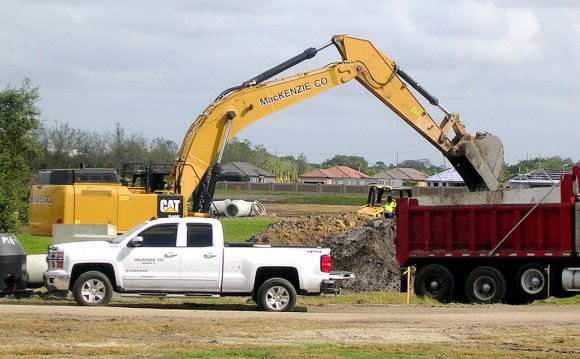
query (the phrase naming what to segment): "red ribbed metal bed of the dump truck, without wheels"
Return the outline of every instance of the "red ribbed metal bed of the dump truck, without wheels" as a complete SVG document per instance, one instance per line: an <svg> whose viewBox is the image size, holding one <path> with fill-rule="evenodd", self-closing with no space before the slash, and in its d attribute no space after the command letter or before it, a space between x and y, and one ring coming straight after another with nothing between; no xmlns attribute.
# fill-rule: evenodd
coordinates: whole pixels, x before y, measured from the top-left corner
<svg viewBox="0 0 580 359"><path fill-rule="evenodd" d="M571 176L564 176L553 191L559 192L558 203L538 204L538 199L535 204L420 205L416 198L399 199L397 262L405 266L436 257L571 257Z"/></svg>

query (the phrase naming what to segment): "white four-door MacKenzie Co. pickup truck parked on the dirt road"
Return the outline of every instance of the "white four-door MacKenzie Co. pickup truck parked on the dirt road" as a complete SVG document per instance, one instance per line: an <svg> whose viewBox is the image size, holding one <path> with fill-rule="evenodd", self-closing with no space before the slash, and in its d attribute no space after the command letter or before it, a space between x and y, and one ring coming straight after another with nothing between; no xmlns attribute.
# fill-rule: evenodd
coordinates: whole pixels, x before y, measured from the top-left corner
<svg viewBox="0 0 580 359"><path fill-rule="evenodd" d="M79 305L122 296L251 296L266 311L292 311L296 295L335 293L330 249L224 243L211 218L147 221L113 241L48 249L46 288Z"/></svg>

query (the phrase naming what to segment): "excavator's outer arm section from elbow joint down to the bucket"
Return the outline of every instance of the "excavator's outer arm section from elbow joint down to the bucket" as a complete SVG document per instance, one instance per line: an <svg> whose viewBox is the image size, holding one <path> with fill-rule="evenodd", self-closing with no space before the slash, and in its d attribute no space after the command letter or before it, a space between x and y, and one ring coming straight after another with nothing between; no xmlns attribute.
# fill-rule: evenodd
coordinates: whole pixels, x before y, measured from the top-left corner
<svg viewBox="0 0 580 359"><path fill-rule="evenodd" d="M338 35L332 41L344 60L356 59L362 64L357 81L441 151L470 191L493 191L500 187L504 157L498 137L489 133L477 133L474 137L467 133L458 114L447 111L436 97L368 40ZM445 113L441 122L433 120L405 83Z"/></svg>

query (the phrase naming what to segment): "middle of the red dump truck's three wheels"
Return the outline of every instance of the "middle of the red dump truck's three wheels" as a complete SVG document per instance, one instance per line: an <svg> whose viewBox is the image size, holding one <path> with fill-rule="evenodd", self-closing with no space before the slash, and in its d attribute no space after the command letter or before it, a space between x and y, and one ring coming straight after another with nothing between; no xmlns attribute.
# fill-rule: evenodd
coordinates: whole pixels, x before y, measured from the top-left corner
<svg viewBox="0 0 580 359"><path fill-rule="evenodd" d="M465 281L465 295L471 303L493 304L502 302L507 291L503 274L493 267L474 269Z"/></svg>

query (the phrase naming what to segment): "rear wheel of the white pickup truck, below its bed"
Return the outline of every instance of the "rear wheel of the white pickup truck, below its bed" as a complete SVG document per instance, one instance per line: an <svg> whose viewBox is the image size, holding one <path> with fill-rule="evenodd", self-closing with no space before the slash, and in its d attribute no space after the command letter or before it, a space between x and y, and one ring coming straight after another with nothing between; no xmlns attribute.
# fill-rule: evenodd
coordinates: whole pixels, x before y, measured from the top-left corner
<svg viewBox="0 0 580 359"><path fill-rule="evenodd" d="M296 306L296 289L283 278L265 281L258 289L257 303L268 312L291 312Z"/></svg>

